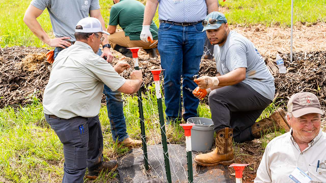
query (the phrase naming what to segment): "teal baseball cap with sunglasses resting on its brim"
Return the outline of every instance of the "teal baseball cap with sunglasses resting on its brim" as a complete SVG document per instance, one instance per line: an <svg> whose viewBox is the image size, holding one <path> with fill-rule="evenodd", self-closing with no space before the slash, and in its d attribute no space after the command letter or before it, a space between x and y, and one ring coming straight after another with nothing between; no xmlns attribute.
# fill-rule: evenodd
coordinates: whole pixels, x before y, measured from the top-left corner
<svg viewBox="0 0 326 183"><path fill-rule="evenodd" d="M202 22L204 29L202 32L204 32L207 29L217 29L219 28L222 23L227 23L225 16L223 13L218 11L213 11L212 13L208 14L205 18L205 20Z"/></svg>

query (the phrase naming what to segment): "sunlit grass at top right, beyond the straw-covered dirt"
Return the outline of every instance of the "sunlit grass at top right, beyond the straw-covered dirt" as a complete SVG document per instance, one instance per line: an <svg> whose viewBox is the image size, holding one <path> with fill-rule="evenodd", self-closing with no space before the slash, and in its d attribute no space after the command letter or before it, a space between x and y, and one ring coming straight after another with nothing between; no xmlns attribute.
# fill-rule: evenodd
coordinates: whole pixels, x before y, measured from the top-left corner
<svg viewBox="0 0 326 183"><path fill-rule="evenodd" d="M226 8L225 16L230 24L252 25L291 25L290 0L226 0L219 1ZM293 3L293 22L325 21L326 0L295 0Z"/></svg>

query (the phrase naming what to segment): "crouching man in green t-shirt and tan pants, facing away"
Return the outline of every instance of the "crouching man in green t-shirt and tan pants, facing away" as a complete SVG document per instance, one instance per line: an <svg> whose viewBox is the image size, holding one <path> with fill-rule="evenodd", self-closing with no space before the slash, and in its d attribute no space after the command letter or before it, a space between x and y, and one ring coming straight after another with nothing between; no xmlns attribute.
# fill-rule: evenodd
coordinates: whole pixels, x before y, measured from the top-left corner
<svg viewBox="0 0 326 183"><path fill-rule="evenodd" d="M140 39L145 6L137 0L113 0L113 3L107 28L111 47L126 57L132 57L131 51L127 48L142 47L149 53L149 57L157 58L155 47L158 30L153 21L150 26L153 35L150 37L151 41L146 43ZM123 31L115 32L118 24Z"/></svg>

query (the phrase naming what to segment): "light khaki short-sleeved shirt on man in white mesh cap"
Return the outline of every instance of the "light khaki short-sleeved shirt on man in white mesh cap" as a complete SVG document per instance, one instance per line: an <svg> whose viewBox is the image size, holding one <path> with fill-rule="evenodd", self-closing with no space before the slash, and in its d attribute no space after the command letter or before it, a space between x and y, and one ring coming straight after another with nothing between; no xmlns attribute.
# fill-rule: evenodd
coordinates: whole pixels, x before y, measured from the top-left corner
<svg viewBox="0 0 326 183"><path fill-rule="evenodd" d="M63 119L98 115L104 83L112 91L126 79L83 42L62 50L52 65L43 95L43 111Z"/></svg>

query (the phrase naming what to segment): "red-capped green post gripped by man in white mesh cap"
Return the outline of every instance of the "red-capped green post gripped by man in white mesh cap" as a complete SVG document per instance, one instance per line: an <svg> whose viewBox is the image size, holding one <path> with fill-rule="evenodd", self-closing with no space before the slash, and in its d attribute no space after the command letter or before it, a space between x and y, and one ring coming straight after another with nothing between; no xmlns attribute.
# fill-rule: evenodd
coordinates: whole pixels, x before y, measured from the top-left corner
<svg viewBox="0 0 326 183"><path fill-rule="evenodd" d="M140 47L135 48L127 48L130 49L132 52L132 58L134 59L135 70L139 70L138 66L138 50L141 49ZM142 98L141 98L141 88L137 91L138 96L138 108L139 108L139 119L141 123L141 141L143 147L143 155L144 155L144 166L145 170L148 170L148 158L147 158L147 145L146 145L146 134L145 134L145 124L144 124L144 113L142 108Z"/></svg>

